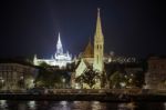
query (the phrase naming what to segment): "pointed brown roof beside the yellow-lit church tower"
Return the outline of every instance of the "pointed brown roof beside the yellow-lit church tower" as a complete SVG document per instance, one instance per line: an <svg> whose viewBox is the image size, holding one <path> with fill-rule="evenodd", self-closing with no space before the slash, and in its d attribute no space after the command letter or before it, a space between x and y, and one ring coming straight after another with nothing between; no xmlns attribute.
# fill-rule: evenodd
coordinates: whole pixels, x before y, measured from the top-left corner
<svg viewBox="0 0 166 110"><path fill-rule="evenodd" d="M83 58L93 58L93 47L91 44L91 41L89 41L89 43L83 52Z"/></svg>

